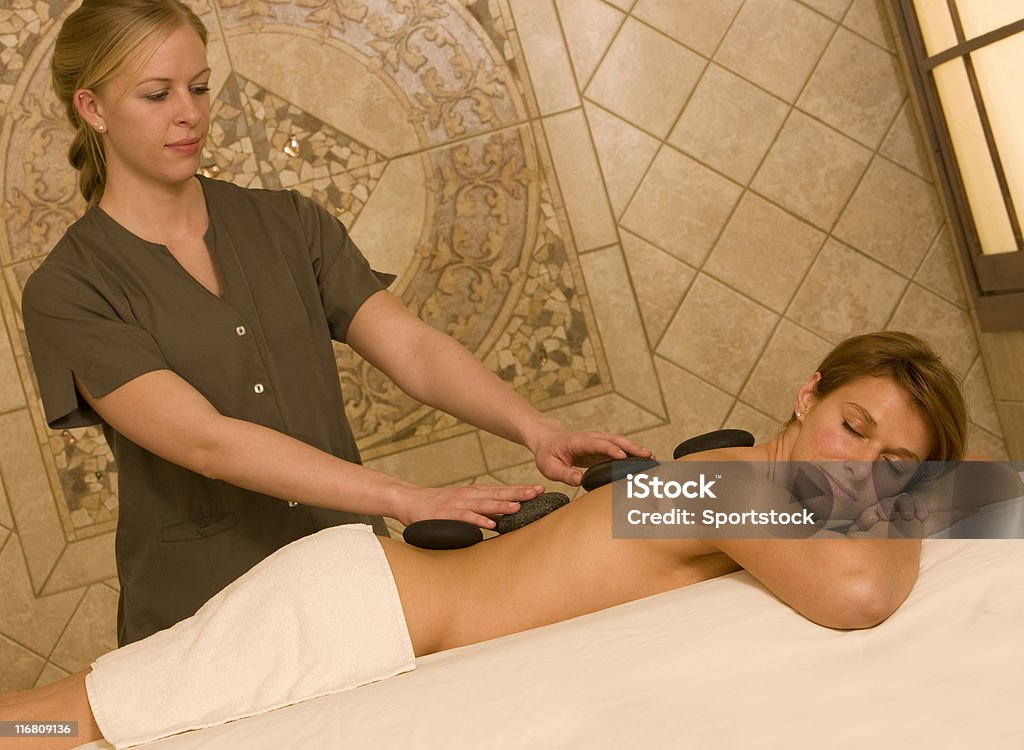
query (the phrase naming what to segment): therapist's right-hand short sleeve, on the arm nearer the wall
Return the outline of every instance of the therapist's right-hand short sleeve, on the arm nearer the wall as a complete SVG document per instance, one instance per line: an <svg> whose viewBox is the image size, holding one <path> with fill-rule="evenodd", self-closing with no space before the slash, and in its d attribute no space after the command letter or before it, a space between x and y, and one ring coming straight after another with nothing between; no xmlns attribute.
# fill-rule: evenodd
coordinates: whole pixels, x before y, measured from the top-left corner
<svg viewBox="0 0 1024 750"><path fill-rule="evenodd" d="M292 200L302 223L331 337L343 342L356 310L372 294L390 286L395 277L371 268L344 224L326 208L295 192Z"/></svg>

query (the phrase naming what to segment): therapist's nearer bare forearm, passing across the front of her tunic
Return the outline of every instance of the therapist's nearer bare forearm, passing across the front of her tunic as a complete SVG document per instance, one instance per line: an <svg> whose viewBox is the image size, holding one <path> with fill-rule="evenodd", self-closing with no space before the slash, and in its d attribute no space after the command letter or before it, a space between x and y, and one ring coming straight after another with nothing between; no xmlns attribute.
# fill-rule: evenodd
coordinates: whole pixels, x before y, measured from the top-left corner
<svg viewBox="0 0 1024 750"><path fill-rule="evenodd" d="M392 517L399 515L402 498L415 488L283 432L230 417L217 420L194 470L303 505Z"/></svg>

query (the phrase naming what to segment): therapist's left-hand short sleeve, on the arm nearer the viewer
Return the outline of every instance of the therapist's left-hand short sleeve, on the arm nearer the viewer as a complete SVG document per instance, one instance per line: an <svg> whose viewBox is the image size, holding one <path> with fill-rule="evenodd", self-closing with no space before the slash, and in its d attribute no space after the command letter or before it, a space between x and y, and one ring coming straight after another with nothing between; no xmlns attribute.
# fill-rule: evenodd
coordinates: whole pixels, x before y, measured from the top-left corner
<svg viewBox="0 0 1024 750"><path fill-rule="evenodd" d="M92 395L102 397L168 367L153 336L126 315L130 305L108 299L101 286L77 268L45 262L26 283L25 333L53 429L100 422L75 387L75 377Z"/></svg>

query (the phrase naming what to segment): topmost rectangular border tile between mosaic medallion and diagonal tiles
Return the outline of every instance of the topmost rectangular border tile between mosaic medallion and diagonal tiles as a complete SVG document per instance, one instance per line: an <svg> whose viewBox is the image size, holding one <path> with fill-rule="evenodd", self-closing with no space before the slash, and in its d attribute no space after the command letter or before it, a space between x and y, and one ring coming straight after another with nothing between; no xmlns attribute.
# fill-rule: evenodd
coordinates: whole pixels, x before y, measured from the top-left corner
<svg viewBox="0 0 1024 750"><path fill-rule="evenodd" d="M580 106L580 94L551 0L509 0L542 115Z"/></svg>

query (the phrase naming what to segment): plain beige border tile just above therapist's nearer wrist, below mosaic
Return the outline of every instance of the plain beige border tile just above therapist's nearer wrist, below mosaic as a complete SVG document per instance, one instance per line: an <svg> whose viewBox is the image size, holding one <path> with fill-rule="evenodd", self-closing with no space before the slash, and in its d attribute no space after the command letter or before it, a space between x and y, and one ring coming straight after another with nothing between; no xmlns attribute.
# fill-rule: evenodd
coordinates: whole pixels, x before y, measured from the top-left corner
<svg viewBox="0 0 1024 750"><path fill-rule="evenodd" d="M465 483L486 470L474 432L375 458L366 465L424 487Z"/></svg>

